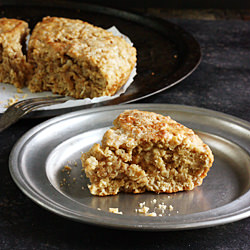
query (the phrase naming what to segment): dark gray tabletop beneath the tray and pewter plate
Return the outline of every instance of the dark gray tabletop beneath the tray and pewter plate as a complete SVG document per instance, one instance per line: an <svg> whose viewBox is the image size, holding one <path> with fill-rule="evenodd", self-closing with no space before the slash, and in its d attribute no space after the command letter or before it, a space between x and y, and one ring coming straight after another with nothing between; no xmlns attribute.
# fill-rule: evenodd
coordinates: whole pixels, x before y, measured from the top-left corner
<svg viewBox="0 0 250 250"><path fill-rule="evenodd" d="M178 20L202 48L198 69L141 103L173 103L221 111L250 122L250 22ZM8 157L14 143L44 119L21 120L0 134L0 249L249 249L250 218L177 232L119 231L61 218L14 184Z"/></svg>

